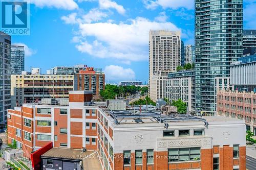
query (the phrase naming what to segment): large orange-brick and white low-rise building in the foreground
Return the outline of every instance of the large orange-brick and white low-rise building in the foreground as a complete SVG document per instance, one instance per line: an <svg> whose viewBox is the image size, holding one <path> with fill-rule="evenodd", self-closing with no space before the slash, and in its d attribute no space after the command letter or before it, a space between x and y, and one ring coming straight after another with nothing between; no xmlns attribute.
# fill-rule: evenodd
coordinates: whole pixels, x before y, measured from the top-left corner
<svg viewBox="0 0 256 170"><path fill-rule="evenodd" d="M66 106L24 104L9 110L8 143L15 139L26 157L49 141L54 147L84 147L96 151L102 169L110 170L245 170L243 120L112 111L90 103L90 91L69 95Z"/></svg>

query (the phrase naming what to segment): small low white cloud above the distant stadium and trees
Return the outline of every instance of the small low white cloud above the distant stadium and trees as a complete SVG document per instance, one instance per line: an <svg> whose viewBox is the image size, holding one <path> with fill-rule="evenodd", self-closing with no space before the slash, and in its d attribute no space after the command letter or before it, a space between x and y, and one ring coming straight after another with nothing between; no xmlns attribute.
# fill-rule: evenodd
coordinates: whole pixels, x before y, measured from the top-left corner
<svg viewBox="0 0 256 170"><path fill-rule="evenodd" d="M123 68L118 65L105 66L106 81L134 80L135 72L131 68Z"/></svg>

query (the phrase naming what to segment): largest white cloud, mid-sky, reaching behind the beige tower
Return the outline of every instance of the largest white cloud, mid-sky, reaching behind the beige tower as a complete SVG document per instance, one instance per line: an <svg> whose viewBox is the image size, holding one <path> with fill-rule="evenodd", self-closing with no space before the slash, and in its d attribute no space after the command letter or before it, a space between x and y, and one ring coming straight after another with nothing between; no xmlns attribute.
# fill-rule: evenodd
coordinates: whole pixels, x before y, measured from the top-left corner
<svg viewBox="0 0 256 170"><path fill-rule="evenodd" d="M150 30L179 30L171 22L150 21L137 17L128 23L80 23L80 39L76 48L99 58L114 58L123 63L148 59L148 33ZM85 38L94 38L90 43ZM78 41L78 38L75 38ZM130 62L129 62L130 61Z"/></svg>

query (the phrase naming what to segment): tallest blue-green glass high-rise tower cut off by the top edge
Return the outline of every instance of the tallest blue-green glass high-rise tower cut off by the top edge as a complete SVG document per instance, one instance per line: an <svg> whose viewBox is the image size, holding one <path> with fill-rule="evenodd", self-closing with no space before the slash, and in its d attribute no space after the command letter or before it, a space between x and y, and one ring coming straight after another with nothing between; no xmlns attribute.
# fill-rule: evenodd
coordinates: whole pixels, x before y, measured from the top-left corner
<svg viewBox="0 0 256 170"><path fill-rule="evenodd" d="M195 1L196 108L214 114L215 77L242 57L243 1Z"/></svg>

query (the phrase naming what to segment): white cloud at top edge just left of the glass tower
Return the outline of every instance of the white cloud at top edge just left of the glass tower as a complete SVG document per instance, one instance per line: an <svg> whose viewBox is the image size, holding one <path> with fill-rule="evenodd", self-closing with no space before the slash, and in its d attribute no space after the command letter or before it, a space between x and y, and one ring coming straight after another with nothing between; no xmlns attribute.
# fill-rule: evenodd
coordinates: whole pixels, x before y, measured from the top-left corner
<svg viewBox="0 0 256 170"><path fill-rule="evenodd" d="M143 0L143 3L147 9L155 9L158 6L162 8L186 8L186 9L194 9L195 0Z"/></svg>

